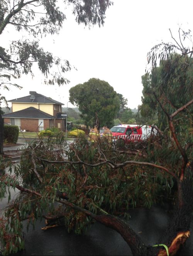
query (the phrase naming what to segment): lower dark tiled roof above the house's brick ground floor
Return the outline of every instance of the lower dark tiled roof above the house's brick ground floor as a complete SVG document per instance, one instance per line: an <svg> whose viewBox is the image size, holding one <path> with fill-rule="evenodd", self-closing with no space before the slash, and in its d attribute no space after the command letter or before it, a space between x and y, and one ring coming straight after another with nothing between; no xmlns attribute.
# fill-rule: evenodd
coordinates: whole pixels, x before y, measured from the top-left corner
<svg viewBox="0 0 193 256"><path fill-rule="evenodd" d="M47 114L35 107L28 107L12 113L2 115L3 118L38 118L38 119L53 119L54 116Z"/></svg>

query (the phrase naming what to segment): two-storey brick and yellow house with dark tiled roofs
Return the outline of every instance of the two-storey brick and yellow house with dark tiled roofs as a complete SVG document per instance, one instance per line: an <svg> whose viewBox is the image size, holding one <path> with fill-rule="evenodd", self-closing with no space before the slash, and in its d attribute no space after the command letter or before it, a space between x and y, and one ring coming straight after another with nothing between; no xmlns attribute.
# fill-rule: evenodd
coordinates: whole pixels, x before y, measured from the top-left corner
<svg viewBox="0 0 193 256"><path fill-rule="evenodd" d="M61 102L53 100L37 92L8 100L12 102L12 112L2 115L4 123L19 126L20 130L41 131L46 128L66 128L66 114L62 113Z"/></svg>

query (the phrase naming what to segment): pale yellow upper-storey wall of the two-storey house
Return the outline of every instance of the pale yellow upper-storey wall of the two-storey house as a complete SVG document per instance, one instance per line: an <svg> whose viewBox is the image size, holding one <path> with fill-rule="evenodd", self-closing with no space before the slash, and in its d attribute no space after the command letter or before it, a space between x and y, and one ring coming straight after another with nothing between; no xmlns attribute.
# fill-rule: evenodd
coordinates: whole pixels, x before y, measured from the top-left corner
<svg viewBox="0 0 193 256"><path fill-rule="evenodd" d="M38 104L37 103L12 103L12 112L19 111L22 109L27 109L27 107L35 107L36 109L39 109L43 112L46 112L47 114L50 114L53 116L54 114L54 108L53 104Z"/></svg>

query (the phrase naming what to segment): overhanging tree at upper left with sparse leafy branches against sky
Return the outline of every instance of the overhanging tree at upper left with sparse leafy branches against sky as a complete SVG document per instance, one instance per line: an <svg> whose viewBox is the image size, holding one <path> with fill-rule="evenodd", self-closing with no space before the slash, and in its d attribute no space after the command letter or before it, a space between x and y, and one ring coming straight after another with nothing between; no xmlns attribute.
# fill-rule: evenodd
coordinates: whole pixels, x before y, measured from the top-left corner
<svg viewBox="0 0 193 256"><path fill-rule="evenodd" d="M39 40L47 34L58 34L66 19L66 6L71 5L72 13L78 24L104 24L105 12L112 5L110 0L63 0L57 6L57 0L0 0L0 42L3 42L6 31L12 26L22 35L30 35L29 39L13 40L6 50L0 46L0 64L8 64L15 78L23 73L32 74L32 65L37 63L45 77L45 83L63 85L69 81L62 73L71 69L67 60L54 57L51 52L39 46ZM54 72L57 66L59 72ZM1 74L2 75L2 74ZM0 116L0 127L2 117ZM0 154L2 154L3 132L0 134Z"/></svg>

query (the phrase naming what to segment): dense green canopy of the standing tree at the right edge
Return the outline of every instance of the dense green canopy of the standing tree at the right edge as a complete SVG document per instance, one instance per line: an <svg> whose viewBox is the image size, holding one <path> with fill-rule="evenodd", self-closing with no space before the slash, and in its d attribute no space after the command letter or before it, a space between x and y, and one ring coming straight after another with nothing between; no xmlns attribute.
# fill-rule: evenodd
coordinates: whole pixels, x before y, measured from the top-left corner
<svg viewBox="0 0 193 256"><path fill-rule="evenodd" d="M166 116L159 102L168 113L171 113L192 99L192 61L191 57L173 53L168 59L164 59L159 67L154 66L151 73L142 76L142 116L149 120L153 119L160 128L166 128Z"/></svg>

